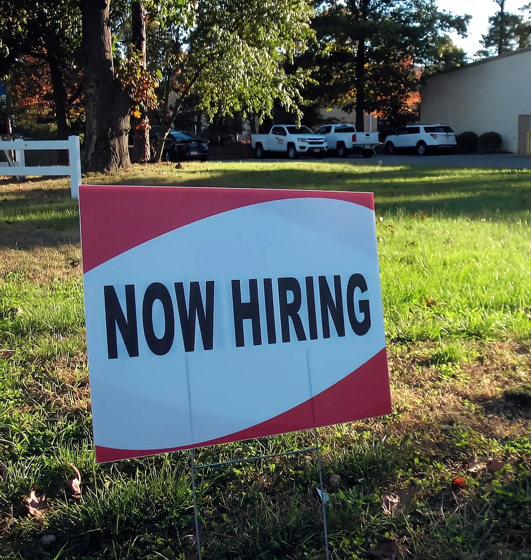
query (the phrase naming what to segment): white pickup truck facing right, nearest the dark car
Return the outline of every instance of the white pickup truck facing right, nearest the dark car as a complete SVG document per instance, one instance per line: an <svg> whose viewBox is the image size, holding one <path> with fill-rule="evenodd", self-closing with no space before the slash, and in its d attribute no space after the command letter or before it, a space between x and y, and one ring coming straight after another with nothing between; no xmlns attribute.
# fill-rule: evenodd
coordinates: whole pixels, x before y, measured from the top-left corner
<svg viewBox="0 0 531 560"><path fill-rule="evenodd" d="M269 134L251 134L251 145L256 157L264 157L266 152L283 152L290 160L299 153L324 156L328 150L325 137L296 124L275 125Z"/></svg>

